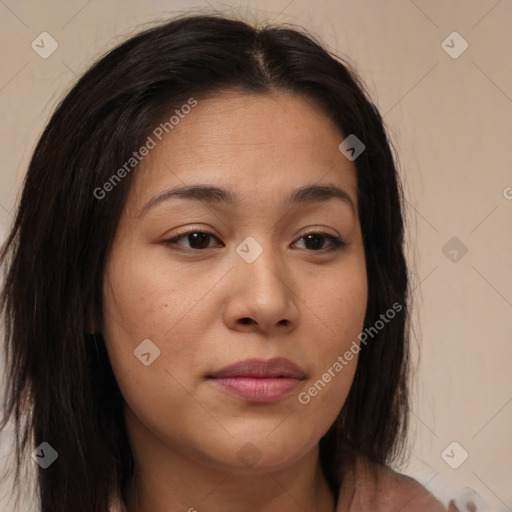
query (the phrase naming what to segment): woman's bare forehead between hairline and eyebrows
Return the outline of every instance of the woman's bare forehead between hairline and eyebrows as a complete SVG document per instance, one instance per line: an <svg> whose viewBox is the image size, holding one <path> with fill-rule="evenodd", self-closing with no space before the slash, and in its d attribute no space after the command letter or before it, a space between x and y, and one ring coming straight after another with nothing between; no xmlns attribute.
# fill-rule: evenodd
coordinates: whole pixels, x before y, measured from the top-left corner
<svg viewBox="0 0 512 512"><path fill-rule="evenodd" d="M198 183L277 200L293 188L329 182L357 201L355 166L338 149L344 135L312 99L223 91L168 117L175 113L178 122L161 140L152 136L155 147L136 171L133 207L166 188Z"/></svg>

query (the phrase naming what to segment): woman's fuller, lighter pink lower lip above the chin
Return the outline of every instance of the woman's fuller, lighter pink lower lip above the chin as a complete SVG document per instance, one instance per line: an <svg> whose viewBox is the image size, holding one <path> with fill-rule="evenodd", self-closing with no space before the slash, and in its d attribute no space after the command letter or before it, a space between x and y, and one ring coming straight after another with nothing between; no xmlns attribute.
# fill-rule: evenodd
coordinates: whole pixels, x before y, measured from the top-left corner
<svg viewBox="0 0 512 512"><path fill-rule="evenodd" d="M213 381L228 393L249 402L272 403L290 395L300 380L288 377L223 377Z"/></svg>

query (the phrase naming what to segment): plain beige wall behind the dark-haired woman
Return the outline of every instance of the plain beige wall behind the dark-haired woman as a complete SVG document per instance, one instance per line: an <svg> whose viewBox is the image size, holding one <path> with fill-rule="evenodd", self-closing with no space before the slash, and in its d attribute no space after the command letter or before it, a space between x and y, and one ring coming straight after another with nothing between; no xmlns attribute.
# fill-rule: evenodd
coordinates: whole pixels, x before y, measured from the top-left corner
<svg viewBox="0 0 512 512"><path fill-rule="evenodd" d="M398 149L417 274L421 360L402 471L445 502L470 487L482 510L512 511L511 0L0 0L0 232L37 137L75 77L141 26L212 7L303 25L367 84ZM59 45L47 59L31 48L43 31ZM454 31L469 45L457 58L442 46ZM462 48L457 36L446 44ZM450 246L444 254L452 237L467 247L462 257ZM0 457L10 441L0 437ZM469 453L458 469L441 456L453 441ZM447 451L452 464L460 447ZM10 511L7 489L0 508Z"/></svg>

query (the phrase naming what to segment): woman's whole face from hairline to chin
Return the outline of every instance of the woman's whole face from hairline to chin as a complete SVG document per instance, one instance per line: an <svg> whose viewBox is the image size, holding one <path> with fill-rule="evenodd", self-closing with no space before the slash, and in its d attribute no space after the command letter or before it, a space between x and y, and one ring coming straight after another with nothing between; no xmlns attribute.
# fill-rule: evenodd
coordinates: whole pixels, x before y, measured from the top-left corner
<svg viewBox="0 0 512 512"><path fill-rule="evenodd" d="M105 269L127 428L155 456L285 468L317 449L356 369L344 357L367 301L355 167L323 111L291 93L178 110L132 171ZM223 192L169 192L199 185ZM304 187L342 192L290 202Z"/></svg>

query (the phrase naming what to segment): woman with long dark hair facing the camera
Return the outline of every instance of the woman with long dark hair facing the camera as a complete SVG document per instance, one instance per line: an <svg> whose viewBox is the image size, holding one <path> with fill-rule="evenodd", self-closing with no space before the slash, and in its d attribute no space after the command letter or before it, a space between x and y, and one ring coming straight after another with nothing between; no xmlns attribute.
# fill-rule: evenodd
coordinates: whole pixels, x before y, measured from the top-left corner
<svg viewBox="0 0 512 512"><path fill-rule="evenodd" d="M390 467L390 144L301 30L185 16L109 52L50 119L1 261L3 423L42 512L444 510Z"/></svg>

